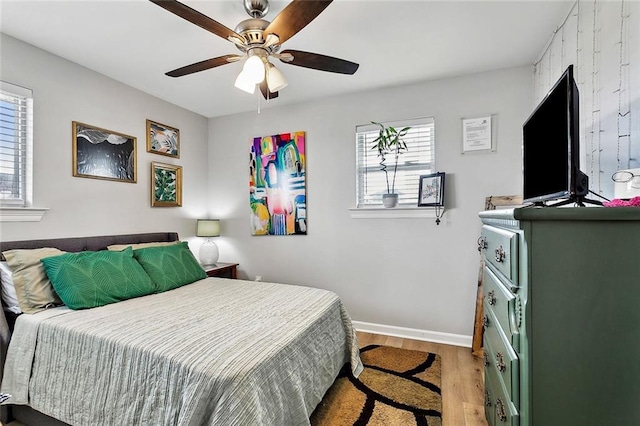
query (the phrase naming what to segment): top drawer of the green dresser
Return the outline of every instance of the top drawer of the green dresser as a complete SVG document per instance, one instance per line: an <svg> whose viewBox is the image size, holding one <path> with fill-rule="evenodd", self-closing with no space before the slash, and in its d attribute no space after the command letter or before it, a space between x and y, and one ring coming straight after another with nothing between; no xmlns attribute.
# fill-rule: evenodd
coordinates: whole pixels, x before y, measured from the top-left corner
<svg viewBox="0 0 640 426"><path fill-rule="evenodd" d="M518 234L506 229L482 226L482 240L486 260L518 285Z"/></svg>

